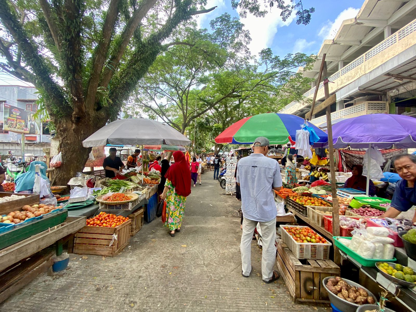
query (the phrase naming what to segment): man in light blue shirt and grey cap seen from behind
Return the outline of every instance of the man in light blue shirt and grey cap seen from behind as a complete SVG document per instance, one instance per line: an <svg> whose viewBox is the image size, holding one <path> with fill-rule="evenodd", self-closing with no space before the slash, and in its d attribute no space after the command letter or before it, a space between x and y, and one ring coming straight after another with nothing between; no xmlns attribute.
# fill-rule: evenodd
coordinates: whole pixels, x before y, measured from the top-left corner
<svg viewBox="0 0 416 312"><path fill-rule="evenodd" d="M237 164L237 184L241 189L243 212L243 234L240 251L243 270L241 274L249 277L251 272L251 241L257 223L262 234L262 279L271 283L279 278L273 271L276 260L276 205L273 190L282 187L280 166L275 159L268 158L269 140L264 136L255 139L254 152L243 157Z"/></svg>

